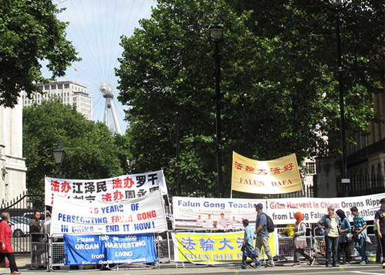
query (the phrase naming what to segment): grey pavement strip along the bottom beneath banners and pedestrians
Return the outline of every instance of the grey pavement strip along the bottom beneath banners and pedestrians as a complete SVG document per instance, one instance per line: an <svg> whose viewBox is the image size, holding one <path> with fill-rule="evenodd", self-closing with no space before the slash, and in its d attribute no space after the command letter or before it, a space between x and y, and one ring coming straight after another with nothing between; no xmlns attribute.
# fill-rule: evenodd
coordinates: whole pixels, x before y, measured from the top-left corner
<svg viewBox="0 0 385 275"><path fill-rule="evenodd" d="M47 270L32 269L30 265L30 259L17 258L17 266L19 271L28 273L29 275L39 275L47 272ZM293 267L292 261L276 261L274 267L266 268L263 264L259 269L254 270L252 267L248 267L246 270L239 270L239 264L226 264L226 265L193 265L182 263L161 263L158 267L146 266L142 264L137 265L120 265L114 267L111 270L86 270L83 267L80 270L70 270L68 266L62 266L61 270L52 270L52 272L82 272L87 275L104 275L104 274L116 274L116 275L141 275L141 274L309 274L309 273L330 273L330 272L370 272L371 274L385 274L385 270L382 269L380 263L369 263L367 265L360 265L352 263L350 265L340 265L340 267L325 267L325 264L314 263L309 266L307 263L303 263L300 267ZM10 274L9 268L0 268L1 274Z"/></svg>

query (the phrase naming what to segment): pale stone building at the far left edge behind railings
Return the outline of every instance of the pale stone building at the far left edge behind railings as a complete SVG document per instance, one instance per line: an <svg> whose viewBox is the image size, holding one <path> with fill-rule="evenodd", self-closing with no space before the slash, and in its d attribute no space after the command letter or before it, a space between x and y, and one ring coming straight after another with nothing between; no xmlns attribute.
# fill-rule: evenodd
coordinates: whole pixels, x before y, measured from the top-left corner
<svg viewBox="0 0 385 275"><path fill-rule="evenodd" d="M25 187L23 158L23 107L0 107L0 204L21 198Z"/></svg>

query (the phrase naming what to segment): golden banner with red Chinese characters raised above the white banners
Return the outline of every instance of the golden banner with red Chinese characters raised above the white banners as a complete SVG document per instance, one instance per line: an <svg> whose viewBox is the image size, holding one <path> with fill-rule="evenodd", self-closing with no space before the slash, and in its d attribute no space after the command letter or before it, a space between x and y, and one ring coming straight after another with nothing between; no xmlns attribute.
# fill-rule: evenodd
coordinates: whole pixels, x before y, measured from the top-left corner
<svg viewBox="0 0 385 275"><path fill-rule="evenodd" d="M232 190L254 194L303 190L296 154L261 162L233 151Z"/></svg>

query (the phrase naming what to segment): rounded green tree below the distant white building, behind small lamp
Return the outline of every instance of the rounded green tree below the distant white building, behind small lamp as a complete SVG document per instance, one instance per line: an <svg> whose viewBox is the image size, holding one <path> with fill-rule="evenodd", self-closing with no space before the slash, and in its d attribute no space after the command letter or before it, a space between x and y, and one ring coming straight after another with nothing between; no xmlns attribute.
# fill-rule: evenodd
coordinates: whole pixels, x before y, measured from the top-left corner
<svg viewBox="0 0 385 275"><path fill-rule="evenodd" d="M115 137L101 122L87 120L60 99L23 109L23 156L27 188L44 192L44 177L56 173L52 150L61 142L63 171L69 179L105 179L123 175Z"/></svg>

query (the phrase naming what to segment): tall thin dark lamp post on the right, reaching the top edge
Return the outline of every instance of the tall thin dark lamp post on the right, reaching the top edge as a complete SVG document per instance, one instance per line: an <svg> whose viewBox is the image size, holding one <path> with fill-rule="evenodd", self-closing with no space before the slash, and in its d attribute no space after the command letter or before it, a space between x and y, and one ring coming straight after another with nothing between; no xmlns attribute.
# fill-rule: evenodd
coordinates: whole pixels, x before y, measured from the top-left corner
<svg viewBox="0 0 385 275"><path fill-rule="evenodd" d="M349 197L349 183L347 168L347 138L345 133L345 111L344 111L344 84L342 79L342 58L341 58L341 38L340 38L340 12L343 8L343 0L329 0L333 5L336 19L336 42L337 42L337 66L338 66L338 87L340 90L340 117L341 117L341 142L342 142L342 184L344 184L344 196Z"/></svg>

